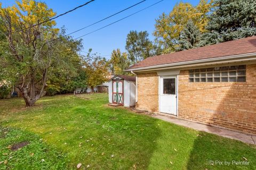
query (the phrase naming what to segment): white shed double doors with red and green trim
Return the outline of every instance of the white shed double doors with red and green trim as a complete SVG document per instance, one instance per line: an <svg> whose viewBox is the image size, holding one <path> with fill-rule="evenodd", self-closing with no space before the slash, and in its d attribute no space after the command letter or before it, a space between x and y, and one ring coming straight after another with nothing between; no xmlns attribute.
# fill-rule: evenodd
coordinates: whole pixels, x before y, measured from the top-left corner
<svg viewBox="0 0 256 170"><path fill-rule="evenodd" d="M124 105L124 81L113 80L113 103Z"/></svg>

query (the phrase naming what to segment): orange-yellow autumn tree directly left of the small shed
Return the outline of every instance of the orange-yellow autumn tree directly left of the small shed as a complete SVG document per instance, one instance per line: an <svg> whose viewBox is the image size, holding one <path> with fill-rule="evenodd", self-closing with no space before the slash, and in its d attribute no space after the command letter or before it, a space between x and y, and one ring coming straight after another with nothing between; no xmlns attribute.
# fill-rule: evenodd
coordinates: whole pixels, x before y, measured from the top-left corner
<svg viewBox="0 0 256 170"><path fill-rule="evenodd" d="M94 91L94 87L108 80L109 72L106 58L91 52L92 49L89 49L89 53L84 56L83 67L87 75L87 85Z"/></svg>

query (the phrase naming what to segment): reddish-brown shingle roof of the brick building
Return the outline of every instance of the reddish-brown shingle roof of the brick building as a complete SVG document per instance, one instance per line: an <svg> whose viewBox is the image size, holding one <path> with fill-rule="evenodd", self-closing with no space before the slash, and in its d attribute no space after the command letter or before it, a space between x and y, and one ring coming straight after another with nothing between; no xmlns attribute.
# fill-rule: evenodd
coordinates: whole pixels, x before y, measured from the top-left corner
<svg viewBox="0 0 256 170"><path fill-rule="evenodd" d="M146 58L128 69L256 52L256 36Z"/></svg>

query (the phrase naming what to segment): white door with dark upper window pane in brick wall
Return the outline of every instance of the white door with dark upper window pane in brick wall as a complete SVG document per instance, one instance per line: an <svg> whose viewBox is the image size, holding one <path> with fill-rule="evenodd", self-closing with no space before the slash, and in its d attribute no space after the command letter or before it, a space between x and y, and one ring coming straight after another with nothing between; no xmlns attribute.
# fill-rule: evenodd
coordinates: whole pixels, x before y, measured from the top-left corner
<svg viewBox="0 0 256 170"><path fill-rule="evenodd" d="M177 77L160 78L160 112L177 115Z"/></svg>

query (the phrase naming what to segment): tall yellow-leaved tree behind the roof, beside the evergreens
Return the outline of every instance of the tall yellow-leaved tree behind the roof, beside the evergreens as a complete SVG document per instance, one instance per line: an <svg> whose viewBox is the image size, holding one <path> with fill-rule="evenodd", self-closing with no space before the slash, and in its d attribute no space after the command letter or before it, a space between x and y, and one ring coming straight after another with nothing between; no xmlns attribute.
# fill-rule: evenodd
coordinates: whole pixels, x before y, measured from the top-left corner
<svg viewBox="0 0 256 170"><path fill-rule="evenodd" d="M204 32L208 22L207 15L211 8L212 0L201 0L195 7L190 3L180 2L173 7L169 15L163 13L159 16L156 19L154 36L156 43L163 48L163 53L176 50L180 33L189 20L193 21L201 32Z"/></svg>

